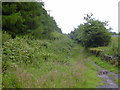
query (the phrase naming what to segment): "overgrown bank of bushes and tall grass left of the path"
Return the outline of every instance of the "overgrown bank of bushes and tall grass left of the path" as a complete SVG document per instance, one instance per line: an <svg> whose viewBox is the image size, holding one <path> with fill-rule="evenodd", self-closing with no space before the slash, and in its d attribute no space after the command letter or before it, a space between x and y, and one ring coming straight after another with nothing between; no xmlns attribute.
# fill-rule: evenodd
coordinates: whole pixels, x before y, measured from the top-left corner
<svg viewBox="0 0 120 90"><path fill-rule="evenodd" d="M95 88L101 79L96 67L85 62L84 48L58 36L4 41L3 88Z"/></svg>

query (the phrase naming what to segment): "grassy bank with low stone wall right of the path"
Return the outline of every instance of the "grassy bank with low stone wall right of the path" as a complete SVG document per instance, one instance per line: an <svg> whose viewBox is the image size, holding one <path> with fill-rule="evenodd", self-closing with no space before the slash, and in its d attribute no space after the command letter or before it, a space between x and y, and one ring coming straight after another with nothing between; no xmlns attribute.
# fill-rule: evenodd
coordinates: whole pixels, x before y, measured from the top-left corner
<svg viewBox="0 0 120 90"><path fill-rule="evenodd" d="M102 62L107 61L106 63L111 63L112 65L118 67L119 58L120 58L119 47L118 47L119 40L120 37L112 37L111 42L108 46L89 48L88 51L100 57L101 59L105 60Z"/></svg>

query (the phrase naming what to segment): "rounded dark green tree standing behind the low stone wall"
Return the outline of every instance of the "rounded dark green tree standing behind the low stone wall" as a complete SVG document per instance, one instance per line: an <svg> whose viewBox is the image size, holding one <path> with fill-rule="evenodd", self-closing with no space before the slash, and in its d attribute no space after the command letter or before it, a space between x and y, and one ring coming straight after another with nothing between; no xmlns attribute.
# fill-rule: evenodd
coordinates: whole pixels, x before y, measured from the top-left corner
<svg viewBox="0 0 120 90"><path fill-rule="evenodd" d="M88 14L87 17L85 17L85 20L87 22L84 23L84 25L80 25L71 33L72 38L81 42L85 47L108 45L111 39L111 34L105 27L107 22L95 20Z"/></svg>

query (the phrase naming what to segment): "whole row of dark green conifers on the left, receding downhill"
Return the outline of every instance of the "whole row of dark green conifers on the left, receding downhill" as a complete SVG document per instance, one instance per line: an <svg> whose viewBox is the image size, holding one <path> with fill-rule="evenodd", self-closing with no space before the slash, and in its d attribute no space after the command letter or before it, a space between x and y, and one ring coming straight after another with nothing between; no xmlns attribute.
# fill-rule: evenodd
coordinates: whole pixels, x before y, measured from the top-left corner
<svg viewBox="0 0 120 90"><path fill-rule="evenodd" d="M34 37L49 36L52 31L61 33L53 17L43 8L43 2L3 2L2 28L16 35L31 33Z"/></svg>

